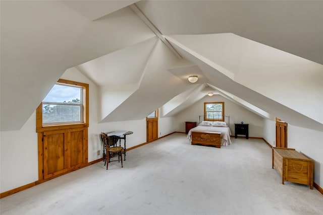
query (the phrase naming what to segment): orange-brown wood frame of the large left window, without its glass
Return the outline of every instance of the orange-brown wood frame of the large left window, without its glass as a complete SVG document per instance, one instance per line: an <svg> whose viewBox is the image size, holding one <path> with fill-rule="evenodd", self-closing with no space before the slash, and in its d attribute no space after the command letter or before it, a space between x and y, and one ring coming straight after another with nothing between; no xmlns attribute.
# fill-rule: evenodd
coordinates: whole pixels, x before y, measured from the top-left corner
<svg viewBox="0 0 323 215"><path fill-rule="evenodd" d="M64 79L59 79L57 84L77 86L82 88L82 122L64 122L64 123L42 123L42 106L43 102L36 109L36 132L43 132L55 129L68 129L77 127L89 126L89 85L80 82L74 82Z"/></svg>

